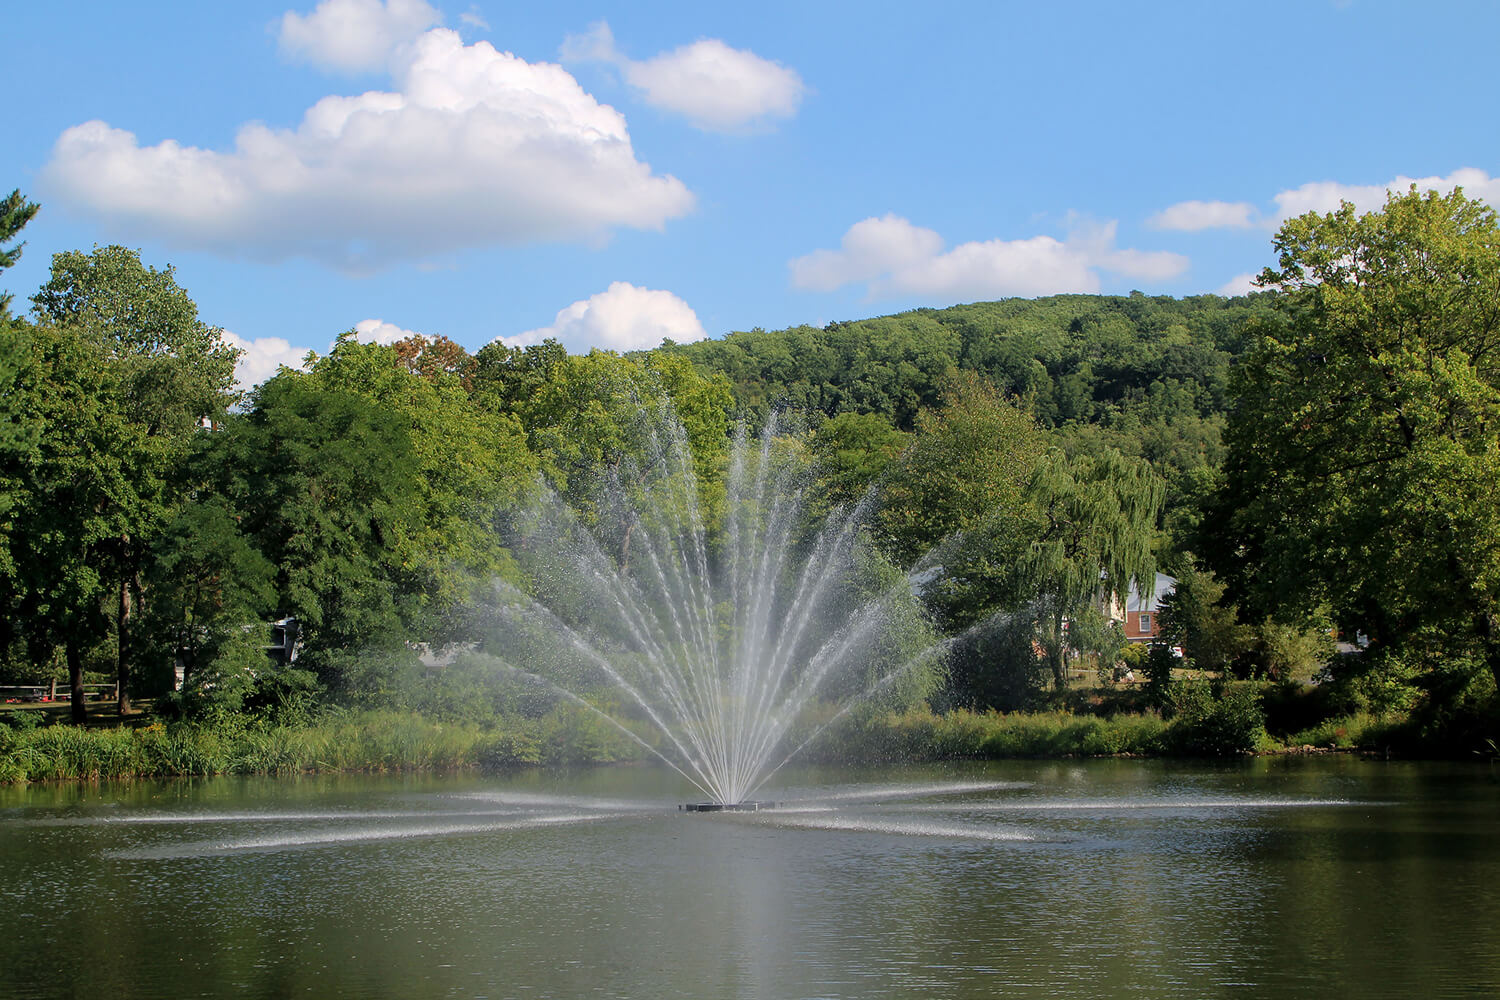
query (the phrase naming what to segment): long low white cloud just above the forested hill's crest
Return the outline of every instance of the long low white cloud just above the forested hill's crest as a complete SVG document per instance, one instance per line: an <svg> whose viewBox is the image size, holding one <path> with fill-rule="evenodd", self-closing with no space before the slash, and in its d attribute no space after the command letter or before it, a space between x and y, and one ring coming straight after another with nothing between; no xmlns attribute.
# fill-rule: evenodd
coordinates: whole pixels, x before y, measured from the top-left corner
<svg viewBox="0 0 1500 1000"><path fill-rule="evenodd" d="M1179 253L1119 249L1114 237L1114 222L1078 223L1066 240L986 240L945 250L932 229L886 214L849 226L837 250L790 261L792 285L834 291L862 282L872 298L964 300L1096 292L1100 271L1160 280L1188 267Z"/></svg>

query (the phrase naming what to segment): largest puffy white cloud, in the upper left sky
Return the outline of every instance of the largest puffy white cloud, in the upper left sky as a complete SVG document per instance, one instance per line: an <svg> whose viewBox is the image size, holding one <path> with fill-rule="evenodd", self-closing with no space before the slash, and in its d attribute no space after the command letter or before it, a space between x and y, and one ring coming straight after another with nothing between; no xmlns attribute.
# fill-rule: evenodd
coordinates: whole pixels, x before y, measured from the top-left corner
<svg viewBox="0 0 1500 1000"><path fill-rule="evenodd" d="M246 124L232 151L142 147L87 121L57 139L44 187L136 240L350 271L471 246L597 244L693 207L560 66L434 28L393 75L396 90L324 97L294 130Z"/></svg>

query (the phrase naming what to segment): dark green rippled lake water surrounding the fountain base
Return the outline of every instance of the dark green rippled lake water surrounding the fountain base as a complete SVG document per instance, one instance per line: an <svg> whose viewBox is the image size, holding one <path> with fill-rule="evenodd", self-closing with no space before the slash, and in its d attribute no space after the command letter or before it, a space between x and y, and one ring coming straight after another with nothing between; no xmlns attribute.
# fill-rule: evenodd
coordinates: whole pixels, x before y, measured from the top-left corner
<svg viewBox="0 0 1500 1000"><path fill-rule="evenodd" d="M1350 757L0 789L14 997L1494 997L1500 778Z"/></svg>

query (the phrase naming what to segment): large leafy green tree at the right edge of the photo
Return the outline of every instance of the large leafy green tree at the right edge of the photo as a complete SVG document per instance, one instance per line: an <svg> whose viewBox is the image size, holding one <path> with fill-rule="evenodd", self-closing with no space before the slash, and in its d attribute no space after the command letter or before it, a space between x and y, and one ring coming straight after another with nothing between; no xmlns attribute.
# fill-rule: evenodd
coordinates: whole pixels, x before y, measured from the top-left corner
<svg viewBox="0 0 1500 1000"><path fill-rule="evenodd" d="M1455 190L1276 234L1234 379L1215 564L1256 610L1500 678L1500 226Z"/></svg>

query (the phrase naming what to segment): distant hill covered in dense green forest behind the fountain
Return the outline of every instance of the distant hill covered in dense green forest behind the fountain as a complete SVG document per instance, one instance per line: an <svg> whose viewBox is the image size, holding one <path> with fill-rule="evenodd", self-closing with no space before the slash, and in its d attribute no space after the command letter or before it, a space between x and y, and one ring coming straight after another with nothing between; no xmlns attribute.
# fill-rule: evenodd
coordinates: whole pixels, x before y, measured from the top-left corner
<svg viewBox="0 0 1500 1000"><path fill-rule="evenodd" d="M916 309L894 316L730 333L668 349L724 373L752 421L771 408L868 414L912 430L954 372L1029 400L1070 453L1112 447L1167 481L1178 535L1222 460L1230 364L1270 294L1052 295Z"/></svg>

